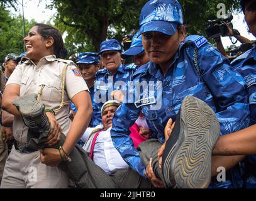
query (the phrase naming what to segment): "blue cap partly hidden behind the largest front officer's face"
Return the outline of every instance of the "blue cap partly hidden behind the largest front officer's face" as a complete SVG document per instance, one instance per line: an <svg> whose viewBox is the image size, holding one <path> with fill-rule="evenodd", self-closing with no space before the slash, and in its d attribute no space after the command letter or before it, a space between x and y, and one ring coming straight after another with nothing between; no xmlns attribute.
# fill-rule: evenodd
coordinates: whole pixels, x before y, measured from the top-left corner
<svg viewBox="0 0 256 201"><path fill-rule="evenodd" d="M133 40L131 41L131 46L128 50L121 53L121 57L130 57L138 55L139 53L142 53L144 51L143 45L142 45L142 35L138 36L138 32L133 36Z"/></svg>

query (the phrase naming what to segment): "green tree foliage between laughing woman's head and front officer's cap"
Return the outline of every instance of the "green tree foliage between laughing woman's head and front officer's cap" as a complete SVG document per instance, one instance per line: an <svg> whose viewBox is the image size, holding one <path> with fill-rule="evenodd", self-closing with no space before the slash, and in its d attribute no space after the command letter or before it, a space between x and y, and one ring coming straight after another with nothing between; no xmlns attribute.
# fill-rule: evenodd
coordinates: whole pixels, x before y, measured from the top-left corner
<svg viewBox="0 0 256 201"><path fill-rule="evenodd" d="M74 52L99 51L106 38L121 41L123 35L138 28L140 9L147 0L53 0L60 31L66 31L65 45ZM73 52L72 52L73 51Z"/></svg>

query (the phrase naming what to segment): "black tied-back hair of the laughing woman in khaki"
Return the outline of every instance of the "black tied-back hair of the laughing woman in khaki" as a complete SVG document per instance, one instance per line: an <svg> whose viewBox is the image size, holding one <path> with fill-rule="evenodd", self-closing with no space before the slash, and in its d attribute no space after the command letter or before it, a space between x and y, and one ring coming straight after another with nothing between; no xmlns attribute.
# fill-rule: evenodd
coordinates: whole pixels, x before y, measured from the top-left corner
<svg viewBox="0 0 256 201"><path fill-rule="evenodd" d="M59 30L53 28L48 24L36 23L38 33L45 39L52 36L53 42L53 52L57 58L67 57L67 49L64 47L64 41Z"/></svg>

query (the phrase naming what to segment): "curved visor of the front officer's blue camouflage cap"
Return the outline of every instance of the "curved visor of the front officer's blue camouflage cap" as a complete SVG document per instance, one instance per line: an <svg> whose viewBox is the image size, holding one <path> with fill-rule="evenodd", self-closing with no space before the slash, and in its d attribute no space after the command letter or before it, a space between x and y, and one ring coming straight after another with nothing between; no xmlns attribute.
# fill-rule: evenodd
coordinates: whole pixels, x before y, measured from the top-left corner
<svg viewBox="0 0 256 201"><path fill-rule="evenodd" d="M176 30L177 23L172 23L169 21L150 21L149 23L145 23L140 27L138 34L142 35L148 31L157 31L172 36Z"/></svg>

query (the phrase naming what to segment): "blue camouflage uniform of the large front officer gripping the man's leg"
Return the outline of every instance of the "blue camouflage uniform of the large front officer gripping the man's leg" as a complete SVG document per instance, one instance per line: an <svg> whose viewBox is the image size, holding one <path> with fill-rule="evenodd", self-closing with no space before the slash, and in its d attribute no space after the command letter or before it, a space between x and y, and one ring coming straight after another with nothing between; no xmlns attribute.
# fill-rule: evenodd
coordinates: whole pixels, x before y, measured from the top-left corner
<svg viewBox="0 0 256 201"><path fill-rule="evenodd" d="M195 54L195 52L197 52ZM194 62L197 55L198 68ZM150 82L155 85L149 90L148 99L143 97L136 103L121 104L114 114L111 137L116 149L133 170L145 177L145 165L131 141L129 128L140 111L155 129L155 136L164 143L164 128L169 118L175 121L182 100L193 95L204 100L220 121L220 135L246 128L249 123L248 97L245 81L230 69L230 62L203 36L188 36L174 55L174 60L165 76L152 62L139 68L133 75L133 82ZM158 82L158 84L157 84ZM152 83L151 83L152 85ZM157 91L162 90L162 97ZM145 101L146 100L146 101ZM159 109L153 109L157 104ZM230 185L227 183L225 185Z"/></svg>

